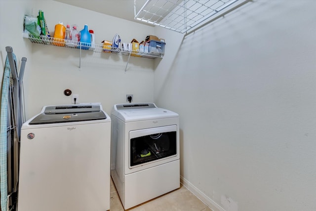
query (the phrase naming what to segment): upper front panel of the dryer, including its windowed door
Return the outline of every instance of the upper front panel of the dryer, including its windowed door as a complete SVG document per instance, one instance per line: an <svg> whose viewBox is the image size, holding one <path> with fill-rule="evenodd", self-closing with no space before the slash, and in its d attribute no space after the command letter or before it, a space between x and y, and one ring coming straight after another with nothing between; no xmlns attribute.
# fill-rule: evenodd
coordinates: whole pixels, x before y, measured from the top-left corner
<svg viewBox="0 0 316 211"><path fill-rule="evenodd" d="M124 150L119 153L120 156L123 155L124 157L124 175L180 159L179 131L178 117L125 123ZM161 136L159 136L159 133L162 133ZM150 136L158 138L159 141L150 141L150 139L153 139ZM155 147L155 143L158 150ZM147 147L144 148L145 145ZM133 147L135 151L133 151ZM166 150L168 147L169 149ZM142 154L143 156L141 156L141 153L145 153L142 148L149 150L150 156L148 155L149 151L147 154ZM164 152L159 148L164 148ZM154 159L153 154L156 154L156 156L160 154L161 157ZM136 157L133 157L133 155ZM141 159L136 159L137 156ZM151 158L153 159L151 160Z"/></svg>

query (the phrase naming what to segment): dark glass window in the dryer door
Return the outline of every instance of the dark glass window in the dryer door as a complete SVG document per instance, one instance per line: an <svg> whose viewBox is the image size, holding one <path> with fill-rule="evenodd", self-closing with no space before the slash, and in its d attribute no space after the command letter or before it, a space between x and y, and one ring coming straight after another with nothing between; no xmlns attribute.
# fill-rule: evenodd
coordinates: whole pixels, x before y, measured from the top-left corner
<svg viewBox="0 0 316 211"><path fill-rule="evenodd" d="M150 130L152 129L147 132ZM152 132L157 132L157 129L152 130ZM176 139L177 131L163 130L158 133L131 138L130 167L176 155Z"/></svg>

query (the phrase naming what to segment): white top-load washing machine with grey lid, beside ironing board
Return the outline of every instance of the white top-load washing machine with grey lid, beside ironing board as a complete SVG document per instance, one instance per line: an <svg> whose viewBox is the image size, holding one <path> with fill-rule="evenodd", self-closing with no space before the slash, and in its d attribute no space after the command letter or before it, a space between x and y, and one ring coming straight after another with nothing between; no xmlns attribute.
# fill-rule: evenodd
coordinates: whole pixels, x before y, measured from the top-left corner
<svg viewBox="0 0 316 211"><path fill-rule="evenodd" d="M111 118L101 104L44 106L21 129L18 211L110 209Z"/></svg>

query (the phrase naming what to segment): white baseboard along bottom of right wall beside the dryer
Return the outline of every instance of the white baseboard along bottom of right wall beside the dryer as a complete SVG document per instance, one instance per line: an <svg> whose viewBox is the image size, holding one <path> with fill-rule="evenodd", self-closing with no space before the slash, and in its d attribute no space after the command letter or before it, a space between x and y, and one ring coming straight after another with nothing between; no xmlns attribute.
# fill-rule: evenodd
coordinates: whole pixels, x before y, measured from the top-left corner
<svg viewBox="0 0 316 211"><path fill-rule="evenodd" d="M203 192L198 190L191 182L185 179L183 176L180 176L180 182L185 186L189 191L191 191L198 199L204 202L212 211L225 211L221 206L216 202L206 196Z"/></svg>

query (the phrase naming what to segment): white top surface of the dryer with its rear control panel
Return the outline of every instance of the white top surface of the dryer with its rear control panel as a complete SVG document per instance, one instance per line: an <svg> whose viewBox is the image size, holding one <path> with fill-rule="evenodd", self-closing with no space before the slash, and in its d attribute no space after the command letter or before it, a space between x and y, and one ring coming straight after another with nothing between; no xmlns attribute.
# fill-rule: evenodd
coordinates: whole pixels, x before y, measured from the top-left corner
<svg viewBox="0 0 316 211"><path fill-rule="evenodd" d="M117 104L114 105L112 115L124 122L179 117L177 113L158 108L154 103Z"/></svg>

